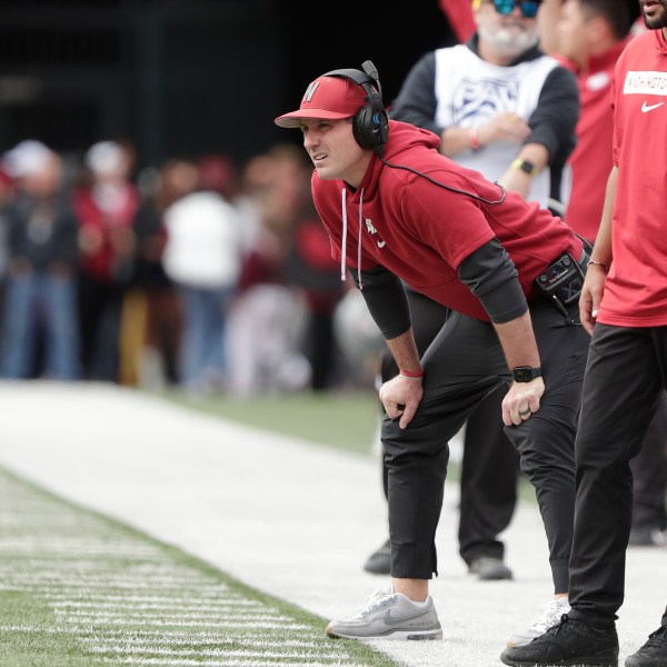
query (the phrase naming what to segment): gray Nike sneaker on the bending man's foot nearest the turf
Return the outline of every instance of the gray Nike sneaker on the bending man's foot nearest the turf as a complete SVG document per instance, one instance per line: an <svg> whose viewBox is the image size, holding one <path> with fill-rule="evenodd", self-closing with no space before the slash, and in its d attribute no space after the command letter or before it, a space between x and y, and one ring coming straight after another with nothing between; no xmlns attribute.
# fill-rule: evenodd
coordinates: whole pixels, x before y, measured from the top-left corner
<svg viewBox="0 0 667 667"><path fill-rule="evenodd" d="M352 618L332 620L327 635L344 639L442 639L430 596L414 603L391 589L376 590Z"/></svg>

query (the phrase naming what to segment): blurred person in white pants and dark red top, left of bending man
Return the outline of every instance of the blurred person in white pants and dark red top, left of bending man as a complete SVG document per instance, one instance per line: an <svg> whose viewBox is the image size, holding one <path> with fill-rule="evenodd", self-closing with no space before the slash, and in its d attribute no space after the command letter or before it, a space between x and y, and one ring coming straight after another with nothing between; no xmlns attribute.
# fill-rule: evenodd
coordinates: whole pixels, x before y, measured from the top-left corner
<svg viewBox="0 0 667 667"><path fill-rule="evenodd" d="M275 146L246 165L257 227L230 312L230 389L238 397L303 389L312 378L303 354L308 301L289 268L309 179L302 150L292 145Z"/></svg>

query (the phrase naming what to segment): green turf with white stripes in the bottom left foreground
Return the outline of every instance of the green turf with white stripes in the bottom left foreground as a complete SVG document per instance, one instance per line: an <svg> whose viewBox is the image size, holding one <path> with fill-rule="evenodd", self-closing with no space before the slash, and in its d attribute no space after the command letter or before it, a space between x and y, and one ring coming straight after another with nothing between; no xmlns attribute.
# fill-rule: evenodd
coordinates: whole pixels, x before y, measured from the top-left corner
<svg viewBox="0 0 667 667"><path fill-rule="evenodd" d="M325 619L0 468L0 666L380 667Z"/></svg>

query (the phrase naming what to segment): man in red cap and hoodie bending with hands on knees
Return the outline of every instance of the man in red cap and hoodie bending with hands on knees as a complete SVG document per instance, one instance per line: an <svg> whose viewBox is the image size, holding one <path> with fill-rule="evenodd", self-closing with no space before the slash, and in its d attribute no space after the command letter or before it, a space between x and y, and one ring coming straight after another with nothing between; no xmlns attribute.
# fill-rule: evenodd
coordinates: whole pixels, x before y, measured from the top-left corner
<svg viewBox="0 0 667 667"><path fill-rule="evenodd" d="M298 110L312 197L399 374L382 385L392 585L331 637L436 639L428 580L448 440L507 384L502 421L537 490L556 590L567 590L574 439L588 337L577 299L583 241L558 218L437 151L428 130L388 120L377 70L328 72ZM420 358L402 281L455 312Z"/></svg>

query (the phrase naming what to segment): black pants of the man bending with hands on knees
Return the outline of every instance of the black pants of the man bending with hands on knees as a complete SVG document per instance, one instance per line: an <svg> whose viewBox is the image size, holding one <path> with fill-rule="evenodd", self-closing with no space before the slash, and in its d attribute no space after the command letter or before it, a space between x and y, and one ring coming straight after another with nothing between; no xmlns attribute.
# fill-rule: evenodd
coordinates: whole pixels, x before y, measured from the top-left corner
<svg viewBox="0 0 667 667"><path fill-rule="evenodd" d="M505 432L536 488L556 593L568 588L575 502L574 441L590 338L545 300L530 306L545 395L538 412ZM578 322L577 307L570 319ZM454 312L422 357L424 398L406 429L385 416L389 534L394 577L437 574L435 535L442 507L448 441L510 375L490 323Z"/></svg>

